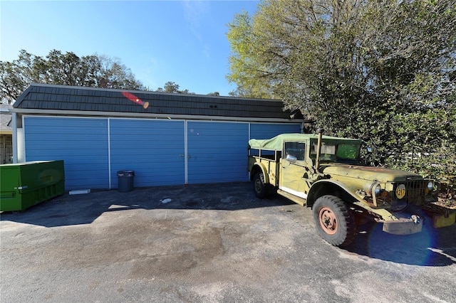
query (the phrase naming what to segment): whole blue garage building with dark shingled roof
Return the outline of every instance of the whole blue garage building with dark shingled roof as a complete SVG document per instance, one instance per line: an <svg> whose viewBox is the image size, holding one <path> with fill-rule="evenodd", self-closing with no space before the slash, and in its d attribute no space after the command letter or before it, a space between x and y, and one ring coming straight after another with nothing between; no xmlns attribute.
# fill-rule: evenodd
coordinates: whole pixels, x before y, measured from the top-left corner
<svg viewBox="0 0 456 303"><path fill-rule="evenodd" d="M66 190L247 181L247 142L301 132L279 100L31 84L11 110L14 161L65 161ZM302 117L302 116L301 116Z"/></svg>

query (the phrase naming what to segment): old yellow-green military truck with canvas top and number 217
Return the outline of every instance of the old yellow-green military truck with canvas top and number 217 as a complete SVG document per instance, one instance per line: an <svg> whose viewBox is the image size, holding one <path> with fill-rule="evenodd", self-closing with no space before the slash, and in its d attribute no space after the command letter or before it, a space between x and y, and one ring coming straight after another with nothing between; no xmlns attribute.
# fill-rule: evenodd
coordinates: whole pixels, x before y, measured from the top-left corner
<svg viewBox="0 0 456 303"><path fill-rule="evenodd" d="M358 139L280 134L249 140L248 170L258 198L276 191L312 208L321 238L336 246L353 242L366 219L395 235L419 233L419 210L435 201L435 182L408 171L368 166Z"/></svg>

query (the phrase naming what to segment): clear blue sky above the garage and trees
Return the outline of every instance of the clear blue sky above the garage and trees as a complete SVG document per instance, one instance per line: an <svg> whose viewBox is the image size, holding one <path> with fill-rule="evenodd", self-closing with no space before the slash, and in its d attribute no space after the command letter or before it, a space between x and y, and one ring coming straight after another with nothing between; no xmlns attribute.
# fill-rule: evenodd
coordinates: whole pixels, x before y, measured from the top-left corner
<svg viewBox="0 0 456 303"><path fill-rule="evenodd" d="M0 60L19 50L119 58L150 90L167 81L228 95L227 23L258 1L3 1Z"/></svg>

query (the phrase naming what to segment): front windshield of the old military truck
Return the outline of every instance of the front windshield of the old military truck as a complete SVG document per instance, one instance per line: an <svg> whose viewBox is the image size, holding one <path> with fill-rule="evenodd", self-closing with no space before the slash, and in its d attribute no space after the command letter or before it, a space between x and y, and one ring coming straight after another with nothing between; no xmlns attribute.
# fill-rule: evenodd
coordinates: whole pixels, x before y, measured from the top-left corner
<svg viewBox="0 0 456 303"><path fill-rule="evenodd" d="M316 142L311 142L311 159L316 158ZM321 142L320 161L358 161L361 144Z"/></svg>

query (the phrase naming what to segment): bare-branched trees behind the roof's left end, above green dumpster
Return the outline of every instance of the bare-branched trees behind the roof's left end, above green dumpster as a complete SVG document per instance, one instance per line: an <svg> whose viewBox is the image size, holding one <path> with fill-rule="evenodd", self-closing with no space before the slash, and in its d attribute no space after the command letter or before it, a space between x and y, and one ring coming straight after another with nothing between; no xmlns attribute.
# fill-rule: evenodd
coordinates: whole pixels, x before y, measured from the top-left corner
<svg viewBox="0 0 456 303"><path fill-rule="evenodd" d="M26 50L13 62L0 61L1 101L11 104L30 83L145 90L131 70L105 55L78 57L51 50L45 58Z"/></svg>

